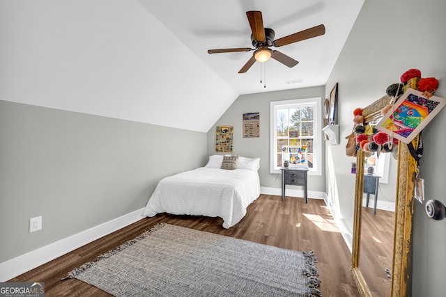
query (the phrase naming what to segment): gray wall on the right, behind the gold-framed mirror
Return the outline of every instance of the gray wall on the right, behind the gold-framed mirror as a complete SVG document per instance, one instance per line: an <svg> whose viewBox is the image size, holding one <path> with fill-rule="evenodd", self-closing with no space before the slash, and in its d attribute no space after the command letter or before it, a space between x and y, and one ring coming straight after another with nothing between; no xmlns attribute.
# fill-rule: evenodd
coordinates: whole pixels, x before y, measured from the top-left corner
<svg viewBox="0 0 446 297"><path fill-rule="evenodd" d="M328 95L339 82L341 145L330 148L332 159L327 162L334 163L334 187L339 191L340 211L346 216L353 216L355 182L348 173L351 159L344 154L343 136L351 131L353 110L382 97L387 86L399 82L410 68L421 70L422 77L436 77L440 81L436 95L446 97L445 12L443 0L366 0L362 7L325 88ZM443 203L445 127L443 110L423 131L421 168L426 198ZM424 204L415 202L412 296L444 295L445 231L445 221L430 220Z"/></svg>

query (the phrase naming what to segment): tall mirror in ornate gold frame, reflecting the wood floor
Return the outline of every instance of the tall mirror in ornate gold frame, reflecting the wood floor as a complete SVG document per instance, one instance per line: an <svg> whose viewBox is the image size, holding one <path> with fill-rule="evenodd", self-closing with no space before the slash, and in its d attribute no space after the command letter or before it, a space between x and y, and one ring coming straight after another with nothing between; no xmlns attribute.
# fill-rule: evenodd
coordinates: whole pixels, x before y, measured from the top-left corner
<svg viewBox="0 0 446 297"><path fill-rule="evenodd" d="M364 124L378 120L381 109L390 99L384 96L363 109ZM364 190L377 193L378 201L379 195L385 194L379 192L378 185L374 188L376 178L369 176L364 151L357 151L351 271L361 296L410 295L415 167L410 162L412 157L407 145L398 145L395 152L392 156L396 159L396 168L390 170L393 175L389 175L390 184L387 184L394 186L394 211L377 207L375 213L374 206L363 207Z"/></svg>

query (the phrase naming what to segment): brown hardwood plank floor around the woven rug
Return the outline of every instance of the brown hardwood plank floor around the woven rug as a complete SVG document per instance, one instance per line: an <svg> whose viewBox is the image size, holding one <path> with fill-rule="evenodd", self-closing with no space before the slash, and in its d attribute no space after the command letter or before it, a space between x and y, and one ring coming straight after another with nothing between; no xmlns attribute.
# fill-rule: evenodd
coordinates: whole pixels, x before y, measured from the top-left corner
<svg viewBox="0 0 446 297"><path fill-rule="evenodd" d="M337 229L323 200L261 195L249 205L247 215L228 230L221 218L158 214L144 218L52 262L13 278L13 282L45 282L45 296L110 296L79 280L63 280L68 271L135 236L157 223L169 223L238 239L287 248L314 250L317 257L322 296L359 296L351 277L351 252Z"/></svg>

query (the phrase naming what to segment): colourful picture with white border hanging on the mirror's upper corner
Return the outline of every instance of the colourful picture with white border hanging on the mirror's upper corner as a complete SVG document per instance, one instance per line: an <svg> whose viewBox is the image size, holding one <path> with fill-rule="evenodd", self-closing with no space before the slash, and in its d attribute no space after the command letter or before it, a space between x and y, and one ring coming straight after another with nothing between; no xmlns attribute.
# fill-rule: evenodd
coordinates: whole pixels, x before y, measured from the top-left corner
<svg viewBox="0 0 446 297"><path fill-rule="evenodd" d="M408 88L376 125L376 129L410 143L443 109L446 99Z"/></svg>

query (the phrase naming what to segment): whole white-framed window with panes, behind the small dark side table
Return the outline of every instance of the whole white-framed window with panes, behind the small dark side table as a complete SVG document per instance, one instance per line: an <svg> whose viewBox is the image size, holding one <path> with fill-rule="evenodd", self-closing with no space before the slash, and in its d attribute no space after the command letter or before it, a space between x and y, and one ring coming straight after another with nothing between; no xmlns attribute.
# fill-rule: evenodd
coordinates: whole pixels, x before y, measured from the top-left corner
<svg viewBox="0 0 446 297"><path fill-rule="evenodd" d="M321 97L271 102L270 113L270 172L280 172L288 150L303 148L309 174L321 175Z"/></svg>

